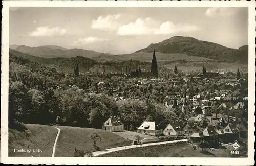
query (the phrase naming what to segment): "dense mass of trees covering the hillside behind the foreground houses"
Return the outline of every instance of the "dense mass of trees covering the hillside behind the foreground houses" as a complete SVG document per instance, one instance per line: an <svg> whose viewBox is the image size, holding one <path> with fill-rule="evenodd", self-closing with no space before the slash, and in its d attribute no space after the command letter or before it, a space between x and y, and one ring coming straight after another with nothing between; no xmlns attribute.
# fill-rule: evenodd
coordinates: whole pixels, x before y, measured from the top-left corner
<svg viewBox="0 0 256 166"><path fill-rule="evenodd" d="M73 70L77 62L73 63ZM123 63L132 64L133 61L120 62ZM80 70L80 63L78 66ZM215 83L189 86L157 83L141 85L136 79L123 81L119 77L101 78L84 72L78 72L79 75L74 77L12 54L9 55L9 68L10 124L18 121L101 128L109 116L116 115L121 118L125 129L129 130L135 130L145 120L163 126L178 121L184 126L187 118L181 112L182 101L172 96L184 97L186 94L192 97L208 90L210 93L203 99L210 99L217 95L215 90L230 89L234 97L241 97L234 103L242 101L242 94L248 93L246 89L225 84L218 86ZM116 97L125 100L117 100ZM220 109L220 104L214 103L212 112L247 118L247 110L228 110L228 104L225 109ZM202 113L200 109L195 111Z"/></svg>

